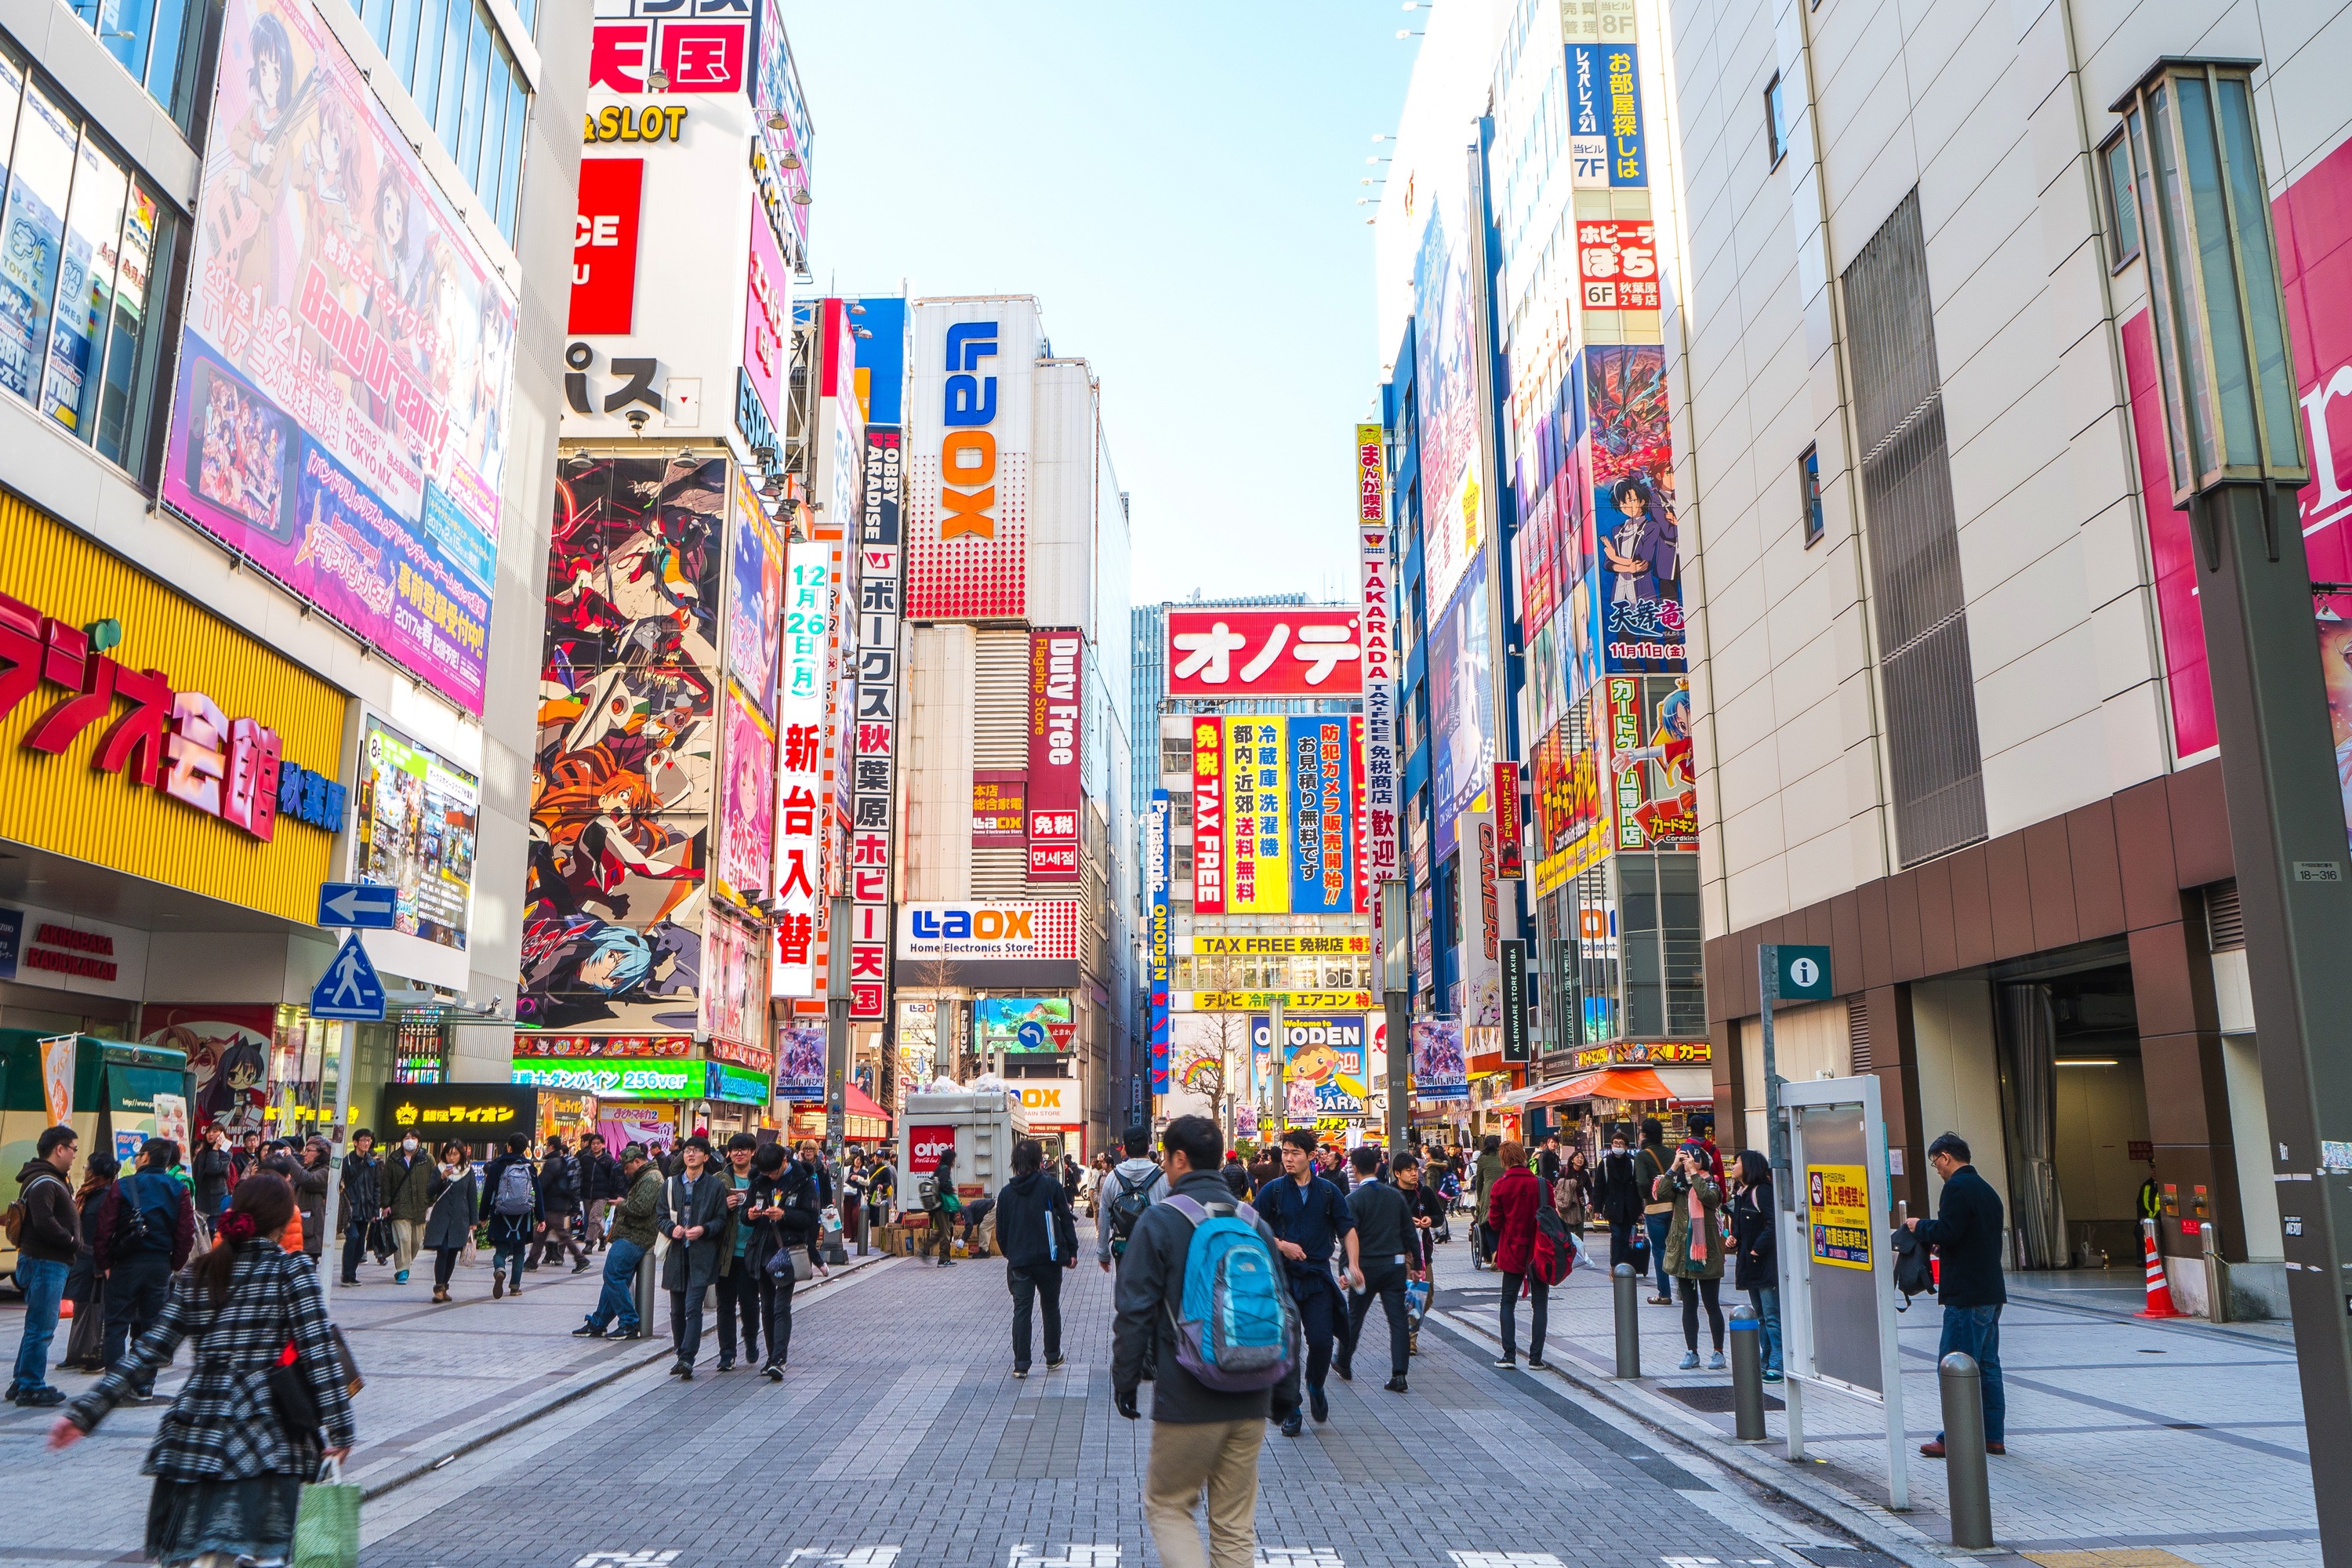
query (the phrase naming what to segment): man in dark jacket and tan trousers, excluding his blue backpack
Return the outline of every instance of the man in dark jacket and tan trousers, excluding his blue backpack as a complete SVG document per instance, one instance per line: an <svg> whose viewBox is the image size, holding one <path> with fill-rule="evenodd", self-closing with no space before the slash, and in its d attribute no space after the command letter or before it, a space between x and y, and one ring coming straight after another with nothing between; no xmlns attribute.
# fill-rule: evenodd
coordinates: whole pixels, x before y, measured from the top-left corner
<svg viewBox="0 0 2352 1568"><path fill-rule="evenodd" d="M1209 1215L1244 1215L1272 1246L1275 1232L1232 1201L1216 1166L1225 1135L1207 1117L1176 1117L1160 1133L1171 1197ZM1305 1159L1305 1157L1301 1157ZM1120 1262L1120 1316L1112 1331L1110 1389L1127 1420L1138 1420L1138 1387L1152 1371L1152 1455L1143 1472L1143 1519L1167 1568L1251 1568L1258 1549L1258 1446L1270 1415L1298 1410L1296 1340L1291 1371L1270 1389L1225 1394L1200 1382L1176 1359L1176 1335L1157 1326L1183 1314L1192 1220L1152 1204L1136 1222ZM1145 1359L1152 1368L1145 1368ZM1209 1490L1209 1554L1200 1549L1192 1505Z"/></svg>

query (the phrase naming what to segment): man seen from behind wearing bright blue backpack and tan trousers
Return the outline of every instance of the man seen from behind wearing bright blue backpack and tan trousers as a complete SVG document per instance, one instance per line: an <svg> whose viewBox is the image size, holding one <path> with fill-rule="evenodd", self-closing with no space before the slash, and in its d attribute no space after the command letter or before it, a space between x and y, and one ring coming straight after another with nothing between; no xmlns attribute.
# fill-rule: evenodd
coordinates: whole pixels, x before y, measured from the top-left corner
<svg viewBox="0 0 2352 1568"><path fill-rule="evenodd" d="M1152 1375L1152 1455L1143 1519L1167 1568L1247 1568L1258 1549L1258 1448L1268 1418L1298 1410L1298 1316L1275 1232L1235 1204L1216 1166L1225 1135L1207 1117L1160 1133L1169 1192L1143 1211L1120 1255L1110 1396L1138 1420ZM1211 1302L1223 1302L1218 1316ZM1152 1361L1145 1368L1145 1359ZM1192 1505L1209 1490L1209 1554Z"/></svg>

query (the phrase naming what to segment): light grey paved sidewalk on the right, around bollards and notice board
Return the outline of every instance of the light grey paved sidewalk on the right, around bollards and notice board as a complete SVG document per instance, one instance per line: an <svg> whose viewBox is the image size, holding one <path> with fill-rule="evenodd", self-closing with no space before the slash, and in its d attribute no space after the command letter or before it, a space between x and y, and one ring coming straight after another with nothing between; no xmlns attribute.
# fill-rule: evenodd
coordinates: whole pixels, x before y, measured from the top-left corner
<svg viewBox="0 0 2352 1568"><path fill-rule="evenodd" d="M1442 1267L1439 1307L1496 1335L1498 1281ZM2114 1274L2110 1269L2110 1274ZM2211 1326L2197 1319L2133 1319L2136 1291L2100 1276L2016 1276L2002 1314L2009 1389L2009 1455L1990 1462L1994 1540L2023 1554L2143 1549L2232 1568L2317 1568L2319 1528L2296 1382L2293 1333L2284 1324ZM1644 1288L1644 1298L1649 1291ZM2110 1300L2112 1295L2112 1300ZM1724 1288L1724 1309L1745 1295ZM1529 1309L1519 1305L1524 1340ZM1552 1359L1590 1389L1609 1389L1646 1418L1717 1443L1731 1434L1731 1375L1672 1371L1682 1356L1682 1309L1642 1307L1637 1389L1613 1380L1616 1319L1599 1269L1552 1295ZM1919 1549L1950 1552L1943 1467L1917 1455L1936 1436L1936 1342L1940 1312L1922 1300L1898 1319L1910 1443L1912 1512L1886 1514L1886 1427L1877 1406L1804 1394L1804 1465L1788 1462L1778 1396L1773 1441L1748 1453L1806 1486L1828 1486ZM1566 1328L1569 1342L1557 1345ZM1708 1326L1698 1326L1700 1354ZM1569 1378L1559 1380L1569 1387ZM2152 1561L2164 1561L2152 1559Z"/></svg>

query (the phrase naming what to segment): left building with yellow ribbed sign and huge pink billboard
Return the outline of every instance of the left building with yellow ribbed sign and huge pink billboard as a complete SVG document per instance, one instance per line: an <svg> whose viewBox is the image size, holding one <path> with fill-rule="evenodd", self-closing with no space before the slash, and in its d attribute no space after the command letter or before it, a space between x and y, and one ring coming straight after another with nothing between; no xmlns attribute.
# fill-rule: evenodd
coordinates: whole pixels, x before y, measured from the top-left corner
<svg viewBox="0 0 2352 1568"><path fill-rule="evenodd" d="M529 0L0 21L0 1041L125 1041L85 1147L506 1079L586 71ZM348 879L381 1023L310 1011Z"/></svg>

